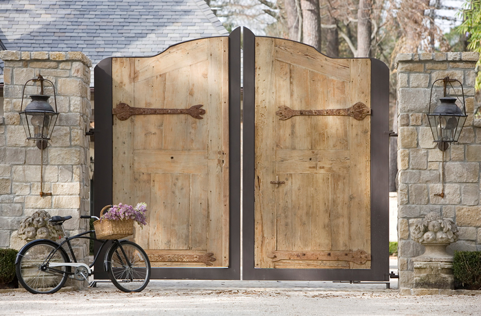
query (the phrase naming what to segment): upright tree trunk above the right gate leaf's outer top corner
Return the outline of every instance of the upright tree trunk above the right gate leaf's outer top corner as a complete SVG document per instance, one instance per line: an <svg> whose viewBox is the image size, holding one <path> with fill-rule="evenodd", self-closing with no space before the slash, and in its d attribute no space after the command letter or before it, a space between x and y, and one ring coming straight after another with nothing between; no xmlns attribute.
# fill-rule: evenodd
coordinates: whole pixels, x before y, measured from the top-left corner
<svg viewBox="0 0 481 316"><path fill-rule="evenodd" d="M371 0L359 0L356 57L371 57L371 10Z"/></svg>

